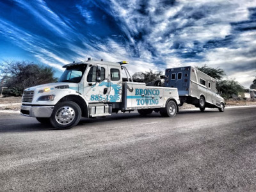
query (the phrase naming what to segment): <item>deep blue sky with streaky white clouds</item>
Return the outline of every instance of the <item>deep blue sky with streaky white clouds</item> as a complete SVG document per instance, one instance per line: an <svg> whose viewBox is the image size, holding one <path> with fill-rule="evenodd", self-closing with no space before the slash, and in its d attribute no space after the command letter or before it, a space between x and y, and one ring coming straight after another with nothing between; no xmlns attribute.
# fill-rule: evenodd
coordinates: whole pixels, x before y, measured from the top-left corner
<svg viewBox="0 0 256 192"><path fill-rule="evenodd" d="M34 61L59 76L64 64L88 57L128 60L131 74L207 64L248 87L256 1L0 1L0 61Z"/></svg>

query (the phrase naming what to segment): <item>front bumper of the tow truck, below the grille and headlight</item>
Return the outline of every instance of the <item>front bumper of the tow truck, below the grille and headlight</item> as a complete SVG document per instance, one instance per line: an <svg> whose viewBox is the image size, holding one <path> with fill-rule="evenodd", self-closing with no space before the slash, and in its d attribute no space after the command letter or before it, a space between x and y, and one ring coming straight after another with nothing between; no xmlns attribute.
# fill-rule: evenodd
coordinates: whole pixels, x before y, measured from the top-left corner
<svg viewBox="0 0 256 192"><path fill-rule="evenodd" d="M20 106L20 115L31 117L50 117L54 106Z"/></svg>

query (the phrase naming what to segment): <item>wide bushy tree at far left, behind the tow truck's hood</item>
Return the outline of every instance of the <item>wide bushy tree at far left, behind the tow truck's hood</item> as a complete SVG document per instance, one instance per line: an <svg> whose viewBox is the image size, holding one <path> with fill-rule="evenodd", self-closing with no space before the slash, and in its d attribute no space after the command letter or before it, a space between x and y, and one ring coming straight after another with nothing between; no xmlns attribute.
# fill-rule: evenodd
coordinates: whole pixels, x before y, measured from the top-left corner
<svg viewBox="0 0 256 192"><path fill-rule="evenodd" d="M20 96L24 88L57 81L51 67L43 67L28 61L3 61L1 76L6 79L8 95Z"/></svg>

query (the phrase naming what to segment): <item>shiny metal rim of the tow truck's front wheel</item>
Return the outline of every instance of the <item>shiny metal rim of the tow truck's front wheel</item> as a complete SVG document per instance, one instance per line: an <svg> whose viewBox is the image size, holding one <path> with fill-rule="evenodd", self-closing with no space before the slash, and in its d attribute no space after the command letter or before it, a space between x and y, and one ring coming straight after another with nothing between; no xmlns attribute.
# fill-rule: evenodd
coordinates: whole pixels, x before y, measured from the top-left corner
<svg viewBox="0 0 256 192"><path fill-rule="evenodd" d="M61 107L55 114L55 119L58 124L67 125L70 124L76 116L75 110L69 106Z"/></svg>

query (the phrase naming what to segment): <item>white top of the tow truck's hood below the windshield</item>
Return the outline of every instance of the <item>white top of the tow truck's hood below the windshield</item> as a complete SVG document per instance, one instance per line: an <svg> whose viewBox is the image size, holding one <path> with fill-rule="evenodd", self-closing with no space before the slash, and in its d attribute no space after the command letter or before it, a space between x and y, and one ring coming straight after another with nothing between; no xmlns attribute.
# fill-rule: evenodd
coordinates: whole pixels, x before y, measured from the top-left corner
<svg viewBox="0 0 256 192"><path fill-rule="evenodd" d="M29 91L35 91L35 90L43 90L45 88L50 88L51 90L61 89L61 88L70 88L72 90L77 91L78 90L78 84L77 83L67 83L67 82L47 83L47 84L40 84L40 85L37 85L37 86L26 88L24 91L29 92Z"/></svg>

